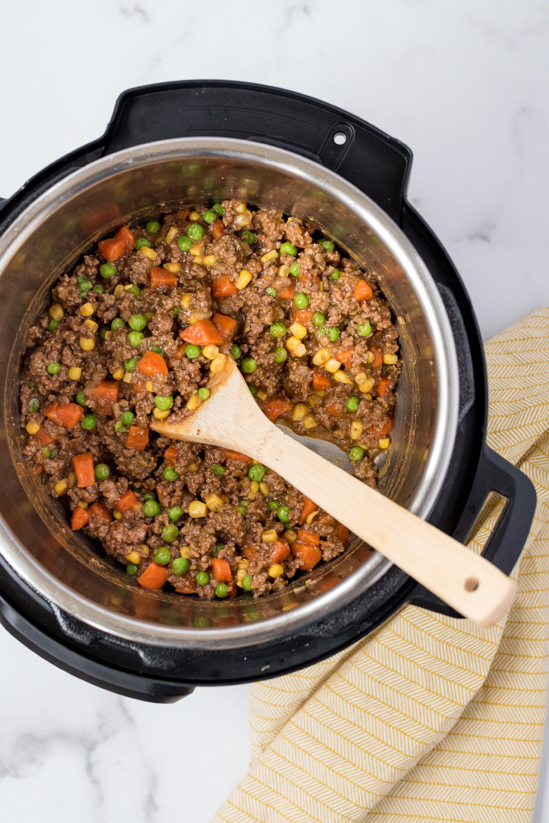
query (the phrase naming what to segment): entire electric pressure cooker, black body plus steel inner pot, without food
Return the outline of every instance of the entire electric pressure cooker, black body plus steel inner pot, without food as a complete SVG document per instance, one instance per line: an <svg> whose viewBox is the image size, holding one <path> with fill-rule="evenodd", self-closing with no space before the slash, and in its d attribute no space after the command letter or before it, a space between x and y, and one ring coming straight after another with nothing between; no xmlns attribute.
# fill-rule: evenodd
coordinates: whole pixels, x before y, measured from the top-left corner
<svg viewBox="0 0 549 823"><path fill-rule="evenodd" d="M450 258L406 199L411 160L401 142L319 100L186 81L126 91L103 137L0 202L0 620L12 635L86 681L170 701L307 666L407 603L454 615L357 538L258 599L146 591L71 531L22 458L25 332L53 281L122 223L225 198L310 219L376 272L404 360L381 491L462 542L497 495L483 553L510 573L535 493L487 448L481 338Z"/></svg>

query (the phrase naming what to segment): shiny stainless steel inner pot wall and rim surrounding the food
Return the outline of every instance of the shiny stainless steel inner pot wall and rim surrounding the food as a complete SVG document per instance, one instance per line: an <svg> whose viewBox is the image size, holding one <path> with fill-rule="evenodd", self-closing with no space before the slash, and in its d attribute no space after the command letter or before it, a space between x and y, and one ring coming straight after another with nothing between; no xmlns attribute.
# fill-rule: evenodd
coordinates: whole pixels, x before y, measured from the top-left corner
<svg viewBox="0 0 549 823"><path fill-rule="evenodd" d="M444 306L408 239L358 188L288 151L206 137L136 146L69 174L0 238L0 551L48 601L137 643L214 649L278 638L342 607L390 566L353 538L343 556L258 600L203 602L147 592L71 531L67 514L21 457L17 398L25 332L47 304L53 281L122 223L212 198L238 198L314 221L375 272L398 319L404 358L381 491L427 517L454 444L458 367Z"/></svg>

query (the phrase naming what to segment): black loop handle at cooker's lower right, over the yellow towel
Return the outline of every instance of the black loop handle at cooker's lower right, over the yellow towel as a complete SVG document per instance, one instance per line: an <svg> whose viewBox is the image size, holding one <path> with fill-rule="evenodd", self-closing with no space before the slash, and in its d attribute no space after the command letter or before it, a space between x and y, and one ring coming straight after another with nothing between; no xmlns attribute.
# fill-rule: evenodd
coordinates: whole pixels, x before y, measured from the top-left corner
<svg viewBox="0 0 549 823"><path fill-rule="evenodd" d="M468 541L492 494L504 498L505 505L482 550L482 556L505 574L510 574L532 526L536 490L524 472L485 445L473 487L452 537L459 542ZM462 616L422 586L413 589L409 602L450 617Z"/></svg>

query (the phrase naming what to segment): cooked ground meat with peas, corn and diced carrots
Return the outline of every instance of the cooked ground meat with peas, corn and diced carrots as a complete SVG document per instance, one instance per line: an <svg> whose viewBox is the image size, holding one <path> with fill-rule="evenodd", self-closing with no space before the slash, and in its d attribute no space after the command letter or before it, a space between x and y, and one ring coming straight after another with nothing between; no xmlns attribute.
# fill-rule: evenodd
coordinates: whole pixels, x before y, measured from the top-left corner
<svg viewBox="0 0 549 823"><path fill-rule="evenodd" d="M237 201L182 209L122 226L53 286L28 332L25 457L137 584L269 593L338 556L347 529L247 455L151 421L208 402L233 357L270 420L346 449L375 486L397 352L374 272L316 226Z"/></svg>

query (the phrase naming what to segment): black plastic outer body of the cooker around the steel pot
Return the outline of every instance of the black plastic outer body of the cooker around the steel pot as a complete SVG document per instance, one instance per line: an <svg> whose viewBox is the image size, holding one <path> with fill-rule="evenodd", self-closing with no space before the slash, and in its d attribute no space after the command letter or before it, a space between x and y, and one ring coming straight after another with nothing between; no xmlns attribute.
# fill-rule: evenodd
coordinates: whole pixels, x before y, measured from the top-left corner
<svg viewBox="0 0 549 823"><path fill-rule="evenodd" d="M491 491L507 501L484 556L510 573L533 519L535 492L487 448L482 342L450 258L406 199L412 154L352 114L269 86L186 81L124 92L104 136L73 151L0 203L0 234L30 202L72 171L114 151L177 137L238 137L279 146L325 165L376 202L404 231L436 281L459 359L459 425L450 469L429 522L464 542ZM0 555L0 621L40 656L122 695L169 702L195 686L276 677L344 649L413 603L458 616L395 566L347 606L283 639L236 649L133 644L78 621L40 597Z"/></svg>

